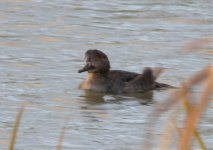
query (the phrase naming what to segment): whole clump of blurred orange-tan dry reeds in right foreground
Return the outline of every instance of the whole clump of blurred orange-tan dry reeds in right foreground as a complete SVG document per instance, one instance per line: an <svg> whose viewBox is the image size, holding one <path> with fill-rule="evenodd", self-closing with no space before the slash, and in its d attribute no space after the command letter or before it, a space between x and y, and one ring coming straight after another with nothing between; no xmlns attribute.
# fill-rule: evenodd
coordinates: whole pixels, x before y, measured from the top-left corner
<svg viewBox="0 0 213 150"><path fill-rule="evenodd" d="M211 46L212 38L203 38L193 41L184 47L185 52L192 52L198 50L207 50L207 46ZM200 87L202 92L200 95L195 95L192 92L194 87ZM200 148L206 149L204 141L197 130L197 125L202 117L202 113L207 109L211 102L213 94L213 65L207 66L200 72L193 75L187 81L183 82L181 87L172 93L168 99L159 104L152 112L152 118L149 124L156 124L160 116L168 111L174 110L167 127L164 131L164 136L161 138L160 148L162 150L170 149L171 145L178 147L179 150L189 150L192 148L193 137L196 138ZM185 110L185 118L180 121L181 114L180 103ZM181 127L179 127L181 124ZM149 127L148 132L153 132L154 125ZM178 135L178 137L177 137ZM152 134L148 135L147 139L154 139ZM178 139L178 140L177 140ZM147 149L151 149L152 142L149 140L145 144Z"/></svg>

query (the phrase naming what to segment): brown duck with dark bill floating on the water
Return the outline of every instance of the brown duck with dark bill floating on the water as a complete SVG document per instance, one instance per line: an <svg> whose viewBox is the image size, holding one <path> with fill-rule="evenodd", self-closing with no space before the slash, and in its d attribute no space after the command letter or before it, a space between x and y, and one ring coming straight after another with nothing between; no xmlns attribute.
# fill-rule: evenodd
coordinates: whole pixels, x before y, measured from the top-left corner
<svg viewBox="0 0 213 150"><path fill-rule="evenodd" d="M84 62L85 66L79 73L87 71L88 74L87 79L80 84L81 89L103 93L139 93L169 87L167 84L155 82L161 72L159 68L146 68L142 74L110 70L108 57L99 50L88 50Z"/></svg>

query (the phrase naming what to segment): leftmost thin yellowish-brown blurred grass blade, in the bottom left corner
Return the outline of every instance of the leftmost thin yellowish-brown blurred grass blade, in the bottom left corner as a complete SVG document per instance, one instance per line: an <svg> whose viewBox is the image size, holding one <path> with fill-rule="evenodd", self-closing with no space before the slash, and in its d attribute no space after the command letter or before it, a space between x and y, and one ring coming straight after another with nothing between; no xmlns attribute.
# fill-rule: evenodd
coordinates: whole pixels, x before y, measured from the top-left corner
<svg viewBox="0 0 213 150"><path fill-rule="evenodd" d="M16 135L17 135L17 132L18 132L18 128L19 128L19 125L20 125L20 121L21 121L24 109L25 109L25 105L23 104L21 106L19 112L18 112L17 117L16 117L16 122L14 124L12 136L11 136L11 139L10 139L9 150L14 150L14 146L15 146L15 142L16 142Z"/></svg>

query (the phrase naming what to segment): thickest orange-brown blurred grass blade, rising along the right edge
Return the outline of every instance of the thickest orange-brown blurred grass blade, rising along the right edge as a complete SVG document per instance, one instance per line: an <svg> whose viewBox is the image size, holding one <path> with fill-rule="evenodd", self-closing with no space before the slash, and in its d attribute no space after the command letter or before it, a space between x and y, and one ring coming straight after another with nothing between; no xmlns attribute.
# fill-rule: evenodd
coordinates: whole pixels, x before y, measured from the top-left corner
<svg viewBox="0 0 213 150"><path fill-rule="evenodd" d="M196 138L198 140L198 143L201 144L201 148L204 146L204 143L200 141L200 135L196 131L196 125L200 120L201 114L206 109L207 104L209 103L209 96L213 93L213 67L210 66L206 70L204 70L206 73L205 75L205 81L204 81L204 88L203 92L201 94L201 98L199 102L189 108L189 111L187 112L185 125L184 125L184 132L181 135L180 143L179 143L179 149L189 149L192 143L192 136L198 135ZM185 95L183 95L184 97ZM186 98L186 97L184 97ZM196 134L197 133L197 134ZM206 149L204 147L204 149Z"/></svg>

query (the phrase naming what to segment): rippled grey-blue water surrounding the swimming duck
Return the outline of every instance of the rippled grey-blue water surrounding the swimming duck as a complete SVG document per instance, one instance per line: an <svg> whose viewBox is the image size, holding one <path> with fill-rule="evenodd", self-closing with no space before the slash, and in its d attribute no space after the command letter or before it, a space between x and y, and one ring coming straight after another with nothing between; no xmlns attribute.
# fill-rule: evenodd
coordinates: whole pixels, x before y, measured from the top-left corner
<svg viewBox="0 0 213 150"><path fill-rule="evenodd" d="M22 102L28 106L17 150L55 149L64 124L63 150L141 149L154 104L170 91L122 96L79 90L84 52L103 50L113 69L164 67L158 81L179 86L212 60L212 49L181 51L187 42L212 36L211 14L210 0L1 0L0 149L8 148ZM199 126L209 149L211 108Z"/></svg>

